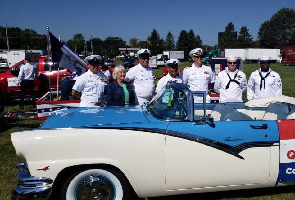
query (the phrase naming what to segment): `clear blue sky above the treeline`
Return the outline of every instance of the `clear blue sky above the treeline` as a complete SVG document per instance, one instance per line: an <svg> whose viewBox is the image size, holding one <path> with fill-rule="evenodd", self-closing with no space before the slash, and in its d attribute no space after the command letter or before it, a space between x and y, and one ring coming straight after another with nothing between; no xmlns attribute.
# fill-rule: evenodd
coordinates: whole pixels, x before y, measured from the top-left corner
<svg viewBox="0 0 295 200"><path fill-rule="evenodd" d="M50 3L50 4L48 4ZM1 26L30 28L46 33L46 26L66 41L76 33L105 39L108 36L146 40L153 28L160 37L168 31L175 43L181 30L193 29L203 44L217 44L217 34L232 21L236 31L247 26L256 39L260 25L279 9L294 8L295 1L4 1Z"/></svg>

